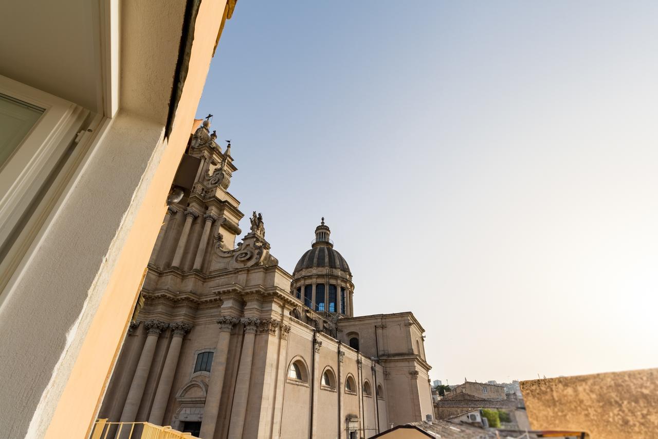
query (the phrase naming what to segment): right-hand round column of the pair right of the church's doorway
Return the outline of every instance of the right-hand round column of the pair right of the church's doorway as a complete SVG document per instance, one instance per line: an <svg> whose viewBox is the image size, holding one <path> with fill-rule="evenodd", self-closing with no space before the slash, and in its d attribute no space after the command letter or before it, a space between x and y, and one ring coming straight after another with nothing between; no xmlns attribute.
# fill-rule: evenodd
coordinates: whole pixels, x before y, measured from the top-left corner
<svg viewBox="0 0 658 439"><path fill-rule="evenodd" d="M244 325L245 335L242 343L242 355L240 356L240 368L238 368L238 380L233 395L233 411L231 412L228 439L242 439L245 414L247 413L247 397L249 397L249 382L251 381L253 342L256 336L256 327L260 320L255 317L243 317L240 322Z"/></svg>

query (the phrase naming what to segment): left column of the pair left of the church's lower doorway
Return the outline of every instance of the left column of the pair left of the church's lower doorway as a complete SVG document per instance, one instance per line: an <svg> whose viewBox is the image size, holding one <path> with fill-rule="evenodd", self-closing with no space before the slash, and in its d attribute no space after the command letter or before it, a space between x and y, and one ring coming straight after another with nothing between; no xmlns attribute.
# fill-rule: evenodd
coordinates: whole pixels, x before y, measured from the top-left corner
<svg viewBox="0 0 658 439"><path fill-rule="evenodd" d="M128 397L124 409L121 412L122 423L133 423L137 416L139 403L144 394L144 387L146 386L146 379L149 377L149 370L151 369L151 362L153 361L153 354L155 353L155 345L157 344L160 333L168 327L168 324L161 320L149 320L144 322L144 327L148 331L144 348L141 350L139 356L139 363L135 370L135 376L132 378ZM127 433L127 432L126 432Z"/></svg>

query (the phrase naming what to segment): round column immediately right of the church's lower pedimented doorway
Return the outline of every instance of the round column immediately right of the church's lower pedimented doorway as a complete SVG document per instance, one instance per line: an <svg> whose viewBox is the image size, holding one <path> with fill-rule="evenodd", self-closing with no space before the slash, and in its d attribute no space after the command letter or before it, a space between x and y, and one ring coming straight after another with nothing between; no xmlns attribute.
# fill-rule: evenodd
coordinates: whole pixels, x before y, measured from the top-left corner
<svg viewBox="0 0 658 439"><path fill-rule="evenodd" d="M226 373L228 342L231 339L231 331L238 322L240 320L234 317L220 317L217 319L219 338L217 339L215 355L213 355L213 365L210 368L208 394L203 407L203 420L201 421L201 432L199 433L201 438L212 439L215 436L219 403L222 398L222 387L224 387L224 374Z"/></svg>

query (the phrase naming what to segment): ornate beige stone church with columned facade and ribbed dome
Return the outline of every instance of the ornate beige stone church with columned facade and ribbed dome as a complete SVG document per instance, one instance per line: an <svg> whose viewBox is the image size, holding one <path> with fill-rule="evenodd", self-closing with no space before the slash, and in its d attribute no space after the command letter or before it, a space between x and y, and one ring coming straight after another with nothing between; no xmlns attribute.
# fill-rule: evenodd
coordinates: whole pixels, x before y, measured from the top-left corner
<svg viewBox="0 0 658 439"><path fill-rule="evenodd" d="M209 128L208 118L193 129L176 177L192 183L174 180L99 417L203 439L368 438L425 419L420 323L411 312L354 316L352 273L324 218L292 274L261 214L236 245L237 168Z"/></svg>

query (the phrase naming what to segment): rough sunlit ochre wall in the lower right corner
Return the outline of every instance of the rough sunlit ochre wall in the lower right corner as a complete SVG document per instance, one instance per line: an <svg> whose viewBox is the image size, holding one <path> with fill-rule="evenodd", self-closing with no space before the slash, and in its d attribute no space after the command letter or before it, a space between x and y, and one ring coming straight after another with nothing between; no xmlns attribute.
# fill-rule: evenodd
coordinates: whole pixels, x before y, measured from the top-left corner
<svg viewBox="0 0 658 439"><path fill-rule="evenodd" d="M535 430L582 430L594 439L655 438L658 368L520 383Z"/></svg>

